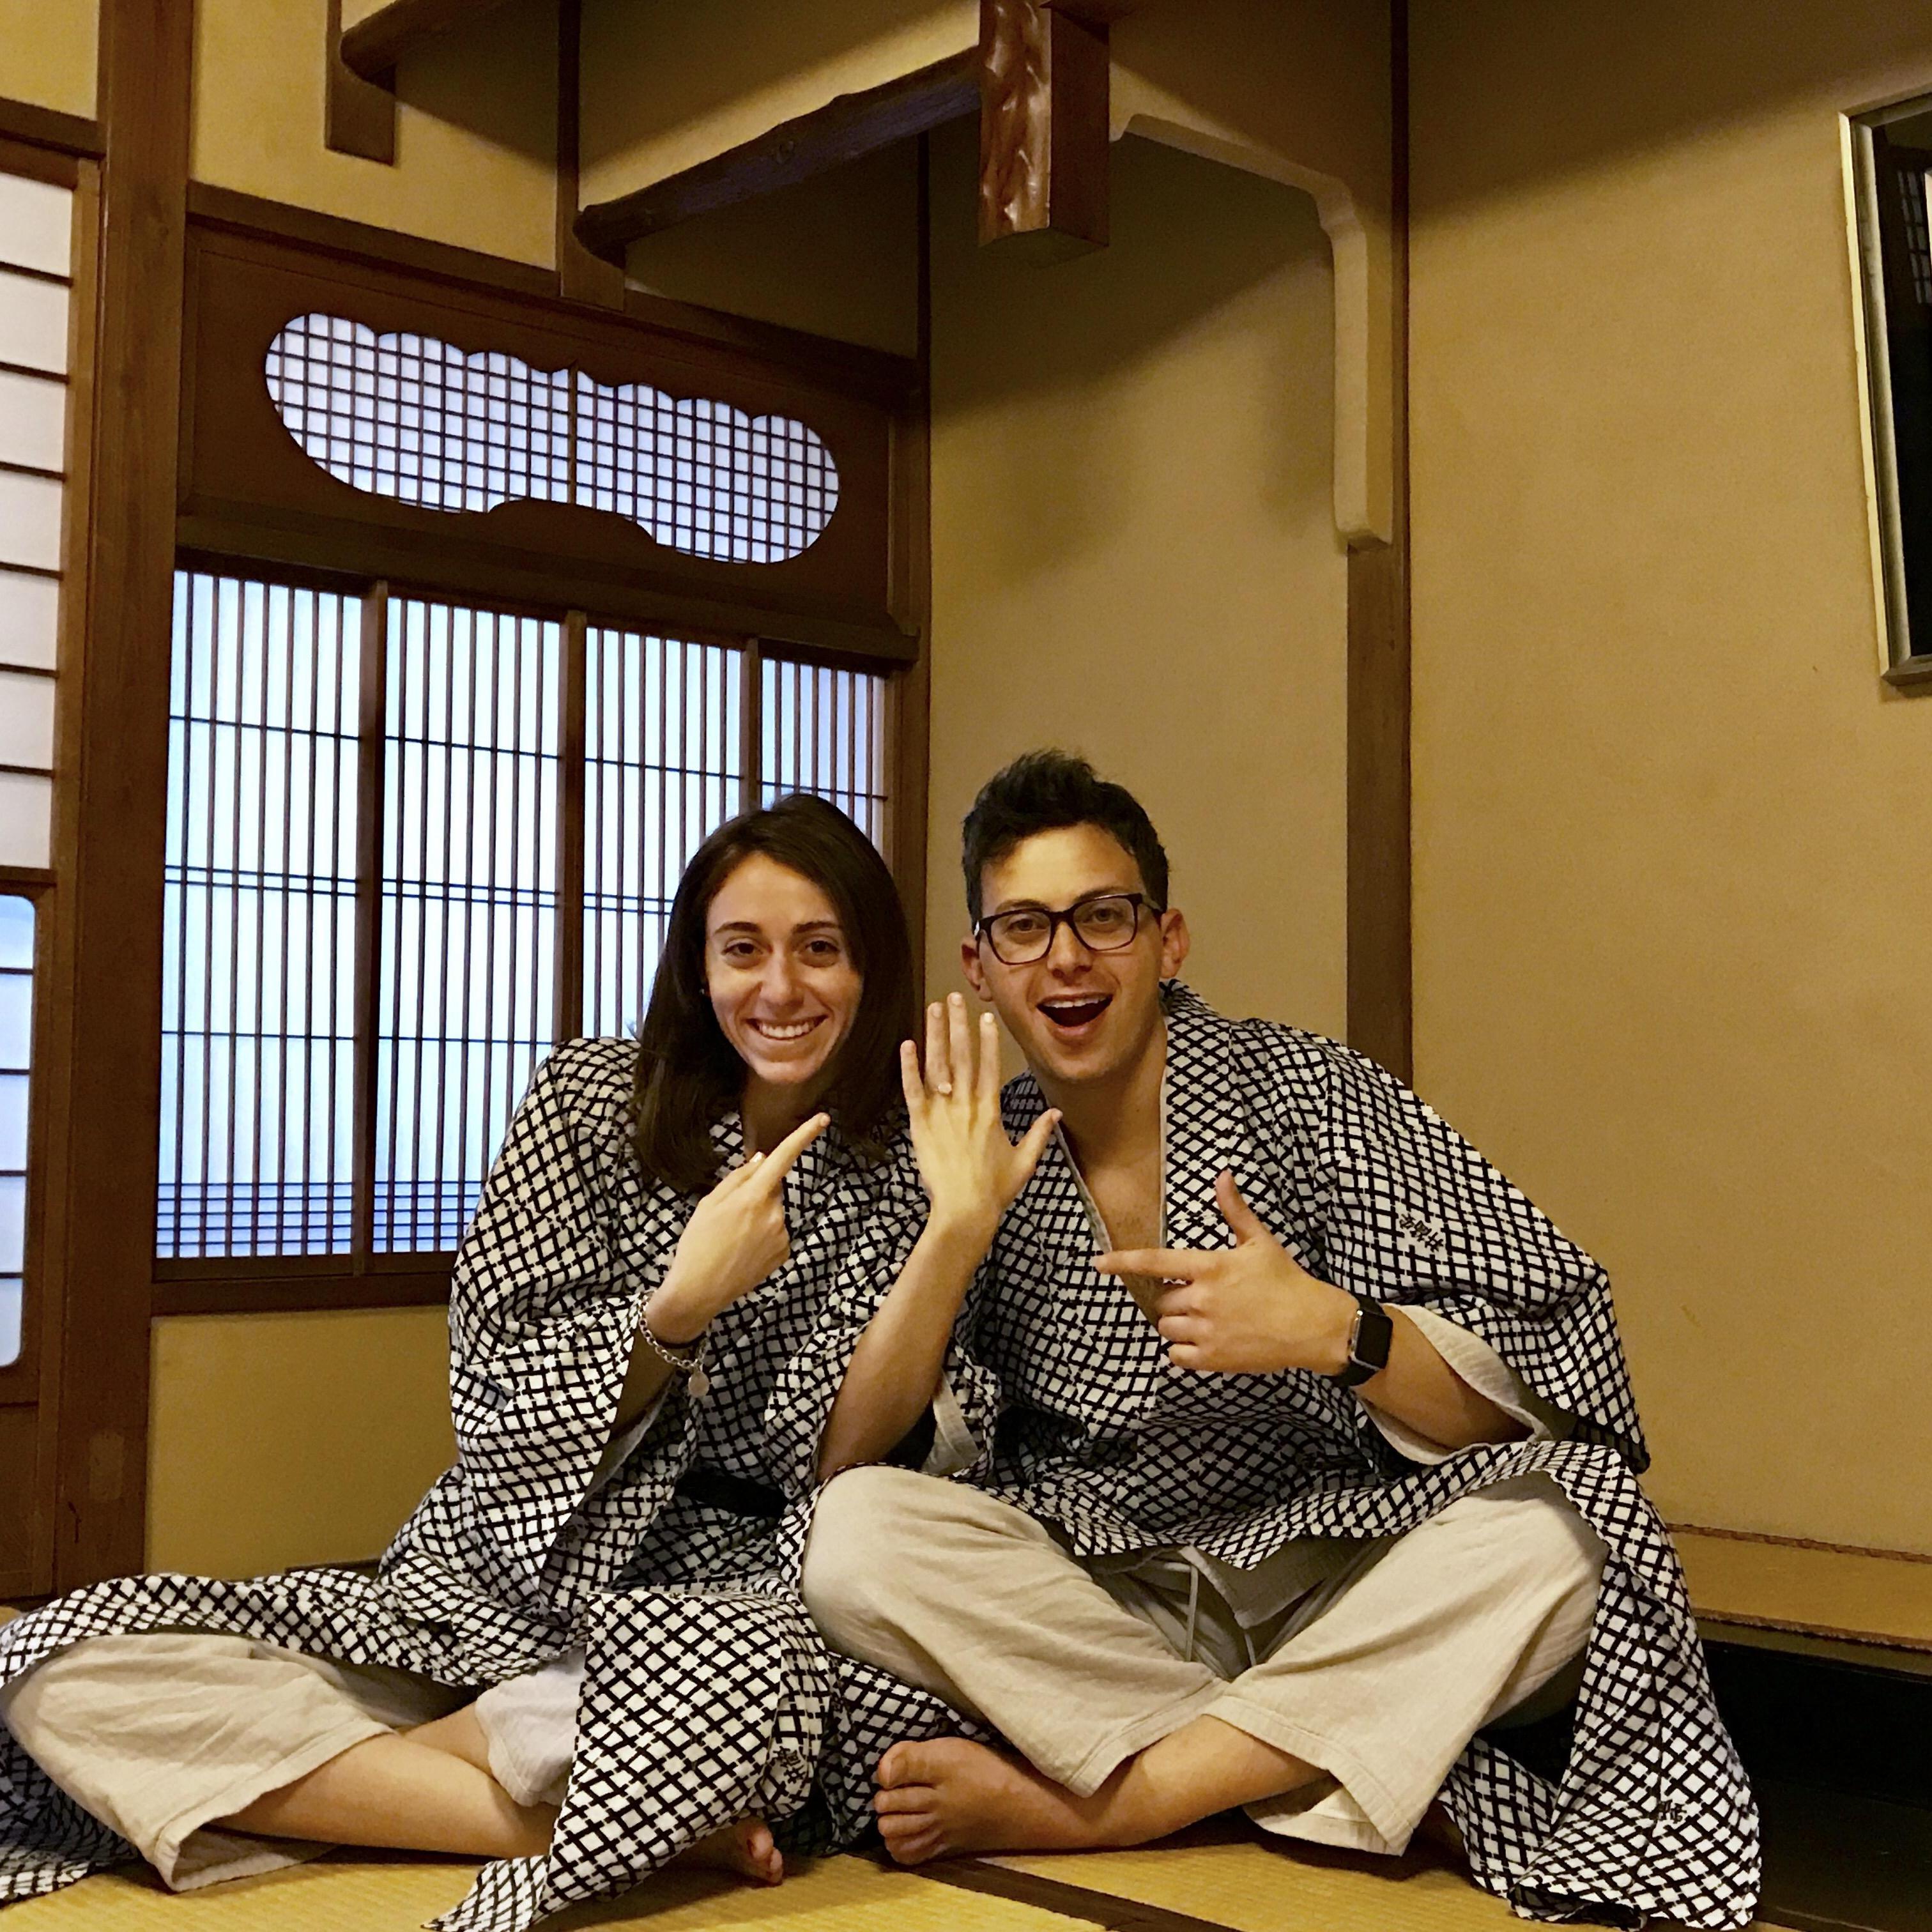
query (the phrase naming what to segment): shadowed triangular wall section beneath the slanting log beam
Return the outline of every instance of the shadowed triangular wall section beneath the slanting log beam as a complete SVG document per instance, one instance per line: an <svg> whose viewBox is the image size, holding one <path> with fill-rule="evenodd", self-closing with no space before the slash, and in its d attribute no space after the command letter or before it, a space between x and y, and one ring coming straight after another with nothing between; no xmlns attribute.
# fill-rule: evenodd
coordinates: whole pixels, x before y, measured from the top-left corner
<svg viewBox="0 0 1932 1932"><path fill-rule="evenodd" d="M918 145L632 243L630 280L786 328L912 355L920 346Z"/></svg>

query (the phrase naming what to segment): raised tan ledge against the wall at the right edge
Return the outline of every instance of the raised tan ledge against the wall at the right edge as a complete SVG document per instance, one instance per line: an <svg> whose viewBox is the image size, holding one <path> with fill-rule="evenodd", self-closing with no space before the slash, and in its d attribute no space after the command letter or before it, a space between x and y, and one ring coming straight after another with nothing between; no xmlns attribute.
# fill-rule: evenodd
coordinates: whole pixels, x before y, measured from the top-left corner
<svg viewBox="0 0 1932 1932"><path fill-rule="evenodd" d="M1932 1650L1932 1561L1677 1530L1700 1617Z"/></svg>

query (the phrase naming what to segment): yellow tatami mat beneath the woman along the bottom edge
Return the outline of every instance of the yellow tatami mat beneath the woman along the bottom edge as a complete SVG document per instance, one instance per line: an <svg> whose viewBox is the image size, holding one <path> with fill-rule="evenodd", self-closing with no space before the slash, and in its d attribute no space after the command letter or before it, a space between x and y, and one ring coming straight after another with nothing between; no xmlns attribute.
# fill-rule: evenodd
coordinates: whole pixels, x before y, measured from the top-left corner
<svg viewBox="0 0 1932 1932"><path fill-rule="evenodd" d="M454 1861L325 1859L269 1878L170 1895L143 1874L104 1872L10 1907L6 1932L410 1932L448 1911L473 1866ZM1068 1932L1036 1905L935 1886L866 1859L821 1859L782 1886L667 1872L624 1899L547 1920L556 1932Z"/></svg>

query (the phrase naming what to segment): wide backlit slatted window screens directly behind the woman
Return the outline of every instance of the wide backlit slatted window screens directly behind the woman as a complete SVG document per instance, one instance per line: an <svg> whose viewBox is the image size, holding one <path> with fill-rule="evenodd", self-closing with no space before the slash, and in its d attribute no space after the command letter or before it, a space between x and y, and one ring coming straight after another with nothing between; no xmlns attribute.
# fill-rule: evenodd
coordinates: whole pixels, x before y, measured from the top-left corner
<svg viewBox="0 0 1932 1932"><path fill-rule="evenodd" d="M885 680L765 657L752 732L748 661L178 576L160 1256L452 1248L558 1028L636 1026L707 833L811 790L885 842Z"/></svg>

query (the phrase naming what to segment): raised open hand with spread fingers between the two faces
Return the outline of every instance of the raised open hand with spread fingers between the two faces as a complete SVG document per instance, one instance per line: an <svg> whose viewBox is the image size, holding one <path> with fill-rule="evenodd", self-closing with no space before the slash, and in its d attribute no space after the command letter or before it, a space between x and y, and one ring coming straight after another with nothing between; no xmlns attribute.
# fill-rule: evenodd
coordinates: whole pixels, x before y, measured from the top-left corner
<svg viewBox="0 0 1932 1932"><path fill-rule="evenodd" d="M978 1039L974 1037L978 1034ZM972 1231L991 1246L1001 1215L1032 1179L1059 1111L1047 1109L1014 1146L999 1101L999 1024L991 1012L978 1028L954 993L925 1009L925 1068L908 1039L900 1051L906 1113L920 1180L941 1227Z"/></svg>

